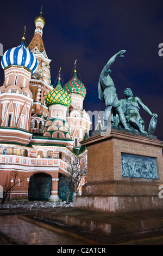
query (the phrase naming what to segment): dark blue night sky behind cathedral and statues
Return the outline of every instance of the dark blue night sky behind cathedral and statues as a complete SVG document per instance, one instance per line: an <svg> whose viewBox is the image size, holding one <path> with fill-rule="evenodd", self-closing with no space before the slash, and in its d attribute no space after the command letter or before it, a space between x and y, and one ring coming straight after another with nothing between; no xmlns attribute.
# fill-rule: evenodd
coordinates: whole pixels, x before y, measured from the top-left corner
<svg viewBox="0 0 163 256"><path fill-rule="evenodd" d="M159 44L163 44L163 1L1 1L0 43L4 52L20 45L24 26L28 46L41 4L46 19L42 37L47 56L52 59L52 85L56 85L60 67L64 84L70 80L77 59L78 78L87 90L84 109L104 111L104 103L98 99L99 75L109 58L125 49L124 57L111 66L118 99L124 98L124 90L130 87L133 96L140 97L152 113L158 114L154 135L163 139L163 56L158 54ZM1 67L0 85L3 81ZM140 114L148 131L151 116L142 109Z"/></svg>

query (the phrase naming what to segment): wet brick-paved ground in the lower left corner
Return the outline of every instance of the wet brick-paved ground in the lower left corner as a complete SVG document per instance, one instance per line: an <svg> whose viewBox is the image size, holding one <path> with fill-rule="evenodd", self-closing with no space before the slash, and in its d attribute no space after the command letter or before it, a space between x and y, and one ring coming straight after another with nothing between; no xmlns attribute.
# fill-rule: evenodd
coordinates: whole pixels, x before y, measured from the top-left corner
<svg viewBox="0 0 163 256"><path fill-rule="evenodd" d="M85 245L78 239L41 228L18 218L17 215L0 217L0 245Z"/></svg>

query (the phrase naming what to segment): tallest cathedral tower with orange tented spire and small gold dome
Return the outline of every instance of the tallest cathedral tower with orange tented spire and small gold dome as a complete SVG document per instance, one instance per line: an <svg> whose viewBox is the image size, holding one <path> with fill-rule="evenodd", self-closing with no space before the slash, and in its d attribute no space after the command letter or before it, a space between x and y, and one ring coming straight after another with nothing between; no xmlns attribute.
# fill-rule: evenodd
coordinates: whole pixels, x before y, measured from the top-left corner
<svg viewBox="0 0 163 256"><path fill-rule="evenodd" d="M37 59L37 69L29 83L29 88L33 93L34 99L30 131L39 135L42 134L44 124L48 117L48 107L45 104L45 97L48 92L53 90L53 86L51 85L51 69L49 67L51 59L47 57L42 39L43 27L46 24L44 17L42 17L42 7L40 15L35 18L34 22L34 37L28 45L28 49L34 53Z"/></svg>

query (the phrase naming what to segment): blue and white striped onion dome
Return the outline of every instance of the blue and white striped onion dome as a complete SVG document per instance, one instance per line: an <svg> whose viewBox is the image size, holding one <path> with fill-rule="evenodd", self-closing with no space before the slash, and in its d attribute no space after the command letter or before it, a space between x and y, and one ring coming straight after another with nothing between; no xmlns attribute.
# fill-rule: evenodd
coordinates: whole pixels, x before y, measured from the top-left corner
<svg viewBox="0 0 163 256"><path fill-rule="evenodd" d="M21 45L5 51L1 59L1 65L3 69L10 65L24 66L32 70L34 74L37 69L37 59L34 53L29 51L24 43L21 43Z"/></svg>

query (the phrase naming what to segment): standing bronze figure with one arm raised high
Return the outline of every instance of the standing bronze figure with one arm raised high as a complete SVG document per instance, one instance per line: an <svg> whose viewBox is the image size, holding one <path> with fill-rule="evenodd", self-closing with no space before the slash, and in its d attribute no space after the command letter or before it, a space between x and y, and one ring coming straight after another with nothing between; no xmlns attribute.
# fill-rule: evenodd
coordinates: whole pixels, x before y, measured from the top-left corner
<svg viewBox="0 0 163 256"><path fill-rule="evenodd" d="M103 102L105 102L104 126L106 126L109 115L113 108L116 111L118 117L120 118L123 128L129 129L127 126L123 111L121 109L120 102L116 94L116 88L115 88L114 82L112 81L112 78L110 76L111 74L110 66L112 65L112 63L115 62L115 59L117 57L123 57L124 52L126 52L126 50L121 50L120 52L112 56L109 59L108 63L103 68L102 73L99 76L98 97Z"/></svg>

